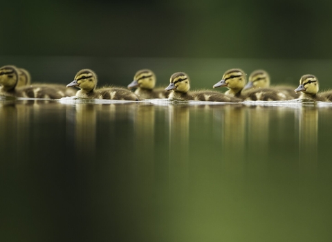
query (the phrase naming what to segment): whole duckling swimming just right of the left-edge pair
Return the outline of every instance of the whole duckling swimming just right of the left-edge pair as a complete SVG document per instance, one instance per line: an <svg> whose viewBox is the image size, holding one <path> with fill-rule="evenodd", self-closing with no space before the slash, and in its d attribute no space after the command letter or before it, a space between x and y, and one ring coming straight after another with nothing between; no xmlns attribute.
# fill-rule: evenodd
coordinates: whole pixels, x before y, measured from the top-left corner
<svg viewBox="0 0 332 242"><path fill-rule="evenodd" d="M138 97L134 93L120 87L110 87L96 90L95 86L97 86L97 82L97 75L95 75L92 70L82 69L75 75L73 82L69 83L67 87L75 86L80 88L81 90L77 91L76 97L81 98L138 101Z"/></svg>

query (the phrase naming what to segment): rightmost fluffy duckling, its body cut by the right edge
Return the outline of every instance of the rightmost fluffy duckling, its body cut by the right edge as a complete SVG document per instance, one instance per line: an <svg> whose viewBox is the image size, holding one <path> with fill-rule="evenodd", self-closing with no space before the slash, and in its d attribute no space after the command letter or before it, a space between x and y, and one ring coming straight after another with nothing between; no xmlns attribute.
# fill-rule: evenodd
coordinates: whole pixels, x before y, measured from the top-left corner
<svg viewBox="0 0 332 242"><path fill-rule="evenodd" d="M301 92L299 99L331 102L332 92L327 91L324 93L318 93L320 86L318 84L317 77L314 75L302 75L299 80L299 86L294 91L296 93Z"/></svg>

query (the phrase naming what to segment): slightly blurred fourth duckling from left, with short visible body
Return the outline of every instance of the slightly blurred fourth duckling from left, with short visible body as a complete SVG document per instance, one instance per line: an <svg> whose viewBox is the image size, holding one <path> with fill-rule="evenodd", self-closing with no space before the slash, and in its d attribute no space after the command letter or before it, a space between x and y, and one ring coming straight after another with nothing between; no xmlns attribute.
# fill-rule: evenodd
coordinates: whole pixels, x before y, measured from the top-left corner
<svg viewBox="0 0 332 242"><path fill-rule="evenodd" d="M169 92L162 89L154 89L156 85L156 75L149 69L136 72L133 82L128 85L128 89L137 88L135 94L142 99L167 98Z"/></svg>

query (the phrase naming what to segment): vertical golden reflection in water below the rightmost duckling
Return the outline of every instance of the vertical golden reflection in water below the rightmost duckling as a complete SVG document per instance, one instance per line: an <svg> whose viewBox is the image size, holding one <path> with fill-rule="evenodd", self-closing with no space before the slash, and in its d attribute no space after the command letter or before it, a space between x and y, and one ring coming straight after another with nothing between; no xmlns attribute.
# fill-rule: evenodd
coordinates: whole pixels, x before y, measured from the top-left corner
<svg viewBox="0 0 332 242"><path fill-rule="evenodd" d="M299 120L299 169L304 174L315 174L318 159L318 110L303 106L297 112Z"/></svg>

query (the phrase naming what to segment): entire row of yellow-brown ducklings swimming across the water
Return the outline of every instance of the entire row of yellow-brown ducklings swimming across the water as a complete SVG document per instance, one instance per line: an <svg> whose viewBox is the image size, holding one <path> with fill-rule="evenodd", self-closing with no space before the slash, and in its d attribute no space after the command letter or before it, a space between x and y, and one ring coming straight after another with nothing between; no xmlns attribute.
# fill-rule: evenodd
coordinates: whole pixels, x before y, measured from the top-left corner
<svg viewBox="0 0 332 242"><path fill-rule="evenodd" d="M318 93L318 80L314 75L303 75L297 89L290 86L270 86L270 77L266 71L251 73L247 83L246 74L239 68L226 71L222 80L213 88L225 86L225 93L217 91L190 91L190 78L186 73L174 73L166 89L157 88L156 75L148 70L140 70L129 84L128 89L136 89L133 93L122 87L104 87L97 89L97 75L90 69L79 71L73 82L67 86L62 84L30 84L30 74L16 66L0 68L0 94L15 97L35 97L59 99L66 96L81 98L98 98L109 100L145 100L151 98L169 98L172 100L199 100L210 102L241 102L243 100L293 100L296 98L314 101L332 101L332 92ZM80 91L68 89L80 88ZM297 93L301 92L301 95Z"/></svg>

